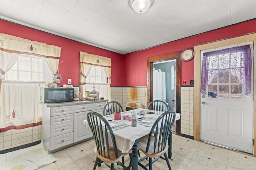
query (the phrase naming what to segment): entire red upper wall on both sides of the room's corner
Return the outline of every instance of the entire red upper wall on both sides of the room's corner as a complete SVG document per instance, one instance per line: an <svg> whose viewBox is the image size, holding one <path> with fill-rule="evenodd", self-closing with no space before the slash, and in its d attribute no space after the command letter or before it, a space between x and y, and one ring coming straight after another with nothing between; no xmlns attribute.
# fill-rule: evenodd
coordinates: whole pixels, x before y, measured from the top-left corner
<svg viewBox="0 0 256 170"><path fill-rule="evenodd" d="M79 85L79 52L87 52L112 59L112 84L111 86L147 86L147 58L186 48L194 45L218 41L256 32L256 20L232 25L207 33L202 33L178 41L159 45L150 49L137 51L127 55L120 55L97 47L58 37L49 33L30 29L0 20L0 33L6 33L32 41L44 42L49 45L61 47L59 72L62 74L62 84L67 84L67 79L72 78L73 85ZM189 85L194 79L194 59L188 62L181 61L181 85ZM186 84L183 84L183 81Z"/></svg>

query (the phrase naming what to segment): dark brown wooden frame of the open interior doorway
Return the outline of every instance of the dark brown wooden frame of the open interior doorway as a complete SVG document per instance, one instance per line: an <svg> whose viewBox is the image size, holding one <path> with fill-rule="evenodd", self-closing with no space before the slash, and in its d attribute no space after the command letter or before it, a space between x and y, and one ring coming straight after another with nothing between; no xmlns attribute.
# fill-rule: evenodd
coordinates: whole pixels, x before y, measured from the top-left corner
<svg viewBox="0 0 256 170"><path fill-rule="evenodd" d="M180 53L181 51L147 58L147 106L153 100L153 63L176 60L176 112L180 113ZM176 121L176 134L180 135L180 120Z"/></svg>

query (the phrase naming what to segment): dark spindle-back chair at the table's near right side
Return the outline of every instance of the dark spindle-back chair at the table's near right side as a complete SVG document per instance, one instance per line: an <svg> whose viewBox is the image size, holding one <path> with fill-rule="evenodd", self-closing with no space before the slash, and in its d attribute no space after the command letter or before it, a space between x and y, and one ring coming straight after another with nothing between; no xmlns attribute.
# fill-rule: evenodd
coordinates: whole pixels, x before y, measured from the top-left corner
<svg viewBox="0 0 256 170"><path fill-rule="evenodd" d="M146 166L149 166L149 170L152 170L152 164L159 158L166 160L169 170L171 166L168 160L168 138L172 133L172 125L175 121L174 111L166 111L156 119L154 125L151 128L149 135L142 138L138 144L138 150L143 152L146 156L139 160L139 165L147 170ZM153 135L154 134L154 135ZM164 157L162 155L164 154ZM140 161L149 158L148 164L143 165ZM154 158L152 160L152 158Z"/></svg>

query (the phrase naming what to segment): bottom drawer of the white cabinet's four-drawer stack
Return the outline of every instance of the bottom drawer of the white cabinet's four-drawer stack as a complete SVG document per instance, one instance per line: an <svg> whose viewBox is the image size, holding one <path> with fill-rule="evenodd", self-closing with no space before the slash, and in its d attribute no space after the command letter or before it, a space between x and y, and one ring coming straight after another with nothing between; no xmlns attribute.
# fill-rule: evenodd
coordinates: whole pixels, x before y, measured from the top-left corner
<svg viewBox="0 0 256 170"><path fill-rule="evenodd" d="M50 149L54 150L73 143L73 132L50 138Z"/></svg>

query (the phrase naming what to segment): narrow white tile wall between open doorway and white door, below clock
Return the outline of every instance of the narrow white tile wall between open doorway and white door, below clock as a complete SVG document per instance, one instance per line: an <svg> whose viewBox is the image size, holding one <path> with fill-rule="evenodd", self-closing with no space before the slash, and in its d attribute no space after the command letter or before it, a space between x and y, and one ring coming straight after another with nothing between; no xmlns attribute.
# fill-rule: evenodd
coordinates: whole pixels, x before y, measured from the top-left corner
<svg viewBox="0 0 256 170"><path fill-rule="evenodd" d="M194 87L181 87L181 133L194 136Z"/></svg>

